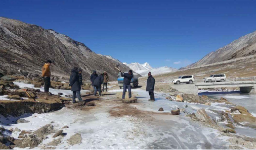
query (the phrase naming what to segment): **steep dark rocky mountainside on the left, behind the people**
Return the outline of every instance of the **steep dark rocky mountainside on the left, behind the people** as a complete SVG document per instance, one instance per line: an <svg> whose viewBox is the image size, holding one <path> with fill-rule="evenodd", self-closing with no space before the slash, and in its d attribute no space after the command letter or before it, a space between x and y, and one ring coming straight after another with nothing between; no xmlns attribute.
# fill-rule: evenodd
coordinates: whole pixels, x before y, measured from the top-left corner
<svg viewBox="0 0 256 150"><path fill-rule="evenodd" d="M106 70L110 80L115 80L117 63L122 70L130 69L111 56L96 54L83 43L54 30L3 17L0 17L0 52L0 71L8 74L39 76L45 61L53 60L53 80L68 79L74 66L82 68L84 79L89 79L93 70Z"/></svg>

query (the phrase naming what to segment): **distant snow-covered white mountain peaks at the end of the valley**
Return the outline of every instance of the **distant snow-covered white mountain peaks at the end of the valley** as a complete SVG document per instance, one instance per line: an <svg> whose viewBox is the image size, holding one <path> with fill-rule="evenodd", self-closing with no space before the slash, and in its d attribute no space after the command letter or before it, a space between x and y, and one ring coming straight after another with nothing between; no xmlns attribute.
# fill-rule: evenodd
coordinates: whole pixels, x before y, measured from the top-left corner
<svg viewBox="0 0 256 150"><path fill-rule="evenodd" d="M138 62L127 64L127 63L123 62L123 64L129 66L132 70L141 74L141 76L147 76L149 71L152 73L152 75L177 71L176 68L167 67L167 66L153 68L147 62L145 62L143 64L140 64Z"/></svg>

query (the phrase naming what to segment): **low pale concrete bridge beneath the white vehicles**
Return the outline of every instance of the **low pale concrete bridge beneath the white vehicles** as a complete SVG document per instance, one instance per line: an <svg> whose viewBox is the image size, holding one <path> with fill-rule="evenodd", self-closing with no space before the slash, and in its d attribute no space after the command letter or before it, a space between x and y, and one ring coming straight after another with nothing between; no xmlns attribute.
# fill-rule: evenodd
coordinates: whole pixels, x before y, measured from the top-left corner
<svg viewBox="0 0 256 150"><path fill-rule="evenodd" d="M228 88L228 87L239 87L240 92L256 94L256 81L228 81L228 82L215 82L215 83L204 83L199 82L195 84L180 84L171 85L172 88L184 93L198 94L198 89L208 88Z"/></svg>

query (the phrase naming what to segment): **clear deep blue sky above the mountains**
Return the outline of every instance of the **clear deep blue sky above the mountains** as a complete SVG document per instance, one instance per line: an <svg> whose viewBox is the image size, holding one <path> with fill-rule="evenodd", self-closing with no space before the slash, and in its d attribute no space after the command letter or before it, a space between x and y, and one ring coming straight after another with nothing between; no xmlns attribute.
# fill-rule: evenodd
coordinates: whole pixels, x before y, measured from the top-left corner
<svg viewBox="0 0 256 150"><path fill-rule="evenodd" d="M1 0L0 16L36 24L122 62L180 68L256 30L256 1Z"/></svg>

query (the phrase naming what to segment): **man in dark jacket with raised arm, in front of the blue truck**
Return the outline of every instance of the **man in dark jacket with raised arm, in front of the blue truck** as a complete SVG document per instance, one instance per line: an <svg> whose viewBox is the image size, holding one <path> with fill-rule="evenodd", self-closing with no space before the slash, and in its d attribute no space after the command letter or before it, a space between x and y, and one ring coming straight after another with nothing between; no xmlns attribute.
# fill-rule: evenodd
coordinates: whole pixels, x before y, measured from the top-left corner
<svg viewBox="0 0 256 150"><path fill-rule="evenodd" d="M121 76L123 77L122 99L125 98L126 89L128 89L129 98L131 98L132 97L131 80L133 79L133 70L129 70L128 73L121 72Z"/></svg>

